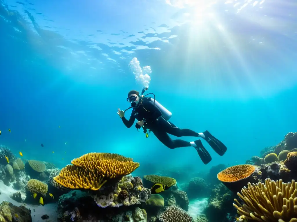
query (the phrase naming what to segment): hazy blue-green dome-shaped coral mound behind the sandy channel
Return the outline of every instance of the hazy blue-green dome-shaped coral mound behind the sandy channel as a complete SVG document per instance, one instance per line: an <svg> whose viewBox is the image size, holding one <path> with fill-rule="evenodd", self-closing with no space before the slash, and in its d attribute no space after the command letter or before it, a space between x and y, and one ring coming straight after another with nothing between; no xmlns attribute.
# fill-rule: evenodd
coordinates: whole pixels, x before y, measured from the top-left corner
<svg viewBox="0 0 297 222"><path fill-rule="evenodd" d="M206 197L209 194L208 186L203 178L194 177L190 179L186 192L189 199Z"/></svg>

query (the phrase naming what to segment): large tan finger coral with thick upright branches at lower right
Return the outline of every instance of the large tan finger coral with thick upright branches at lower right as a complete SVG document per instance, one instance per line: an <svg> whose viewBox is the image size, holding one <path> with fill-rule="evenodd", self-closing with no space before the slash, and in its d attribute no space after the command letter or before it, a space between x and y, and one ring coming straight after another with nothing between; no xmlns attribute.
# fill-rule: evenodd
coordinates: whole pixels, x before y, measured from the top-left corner
<svg viewBox="0 0 297 222"><path fill-rule="evenodd" d="M242 194L242 195L241 195ZM297 182L284 183L282 179L273 181L267 178L265 184L248 183L248 188L241 189L238 197L244 202L237 205L237 213L255 221L297 221Z"/></svg>

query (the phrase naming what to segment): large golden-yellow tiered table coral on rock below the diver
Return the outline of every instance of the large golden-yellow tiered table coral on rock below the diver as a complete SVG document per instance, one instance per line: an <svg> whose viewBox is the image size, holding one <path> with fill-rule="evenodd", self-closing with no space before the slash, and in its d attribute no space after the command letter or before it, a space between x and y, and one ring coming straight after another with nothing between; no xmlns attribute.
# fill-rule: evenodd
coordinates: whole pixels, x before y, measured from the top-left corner
<svg viewBox="0 0 297 222"><path fill-rule="evenodd" d="M132 173L140 163L113 153L87 153L71 161L54 180L70 189L99 190L108 179Z"/></svg>

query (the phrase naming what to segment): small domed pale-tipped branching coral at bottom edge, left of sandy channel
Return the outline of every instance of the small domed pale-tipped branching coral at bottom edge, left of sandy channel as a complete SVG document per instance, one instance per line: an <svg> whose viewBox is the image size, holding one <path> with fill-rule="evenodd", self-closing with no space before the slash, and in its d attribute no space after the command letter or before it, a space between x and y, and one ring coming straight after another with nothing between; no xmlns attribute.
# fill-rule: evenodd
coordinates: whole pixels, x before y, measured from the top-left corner
<svg viewBox="0 0 297 222"><path fill-rule="evenodd" d="M160 214L159 220L162 222L192 222L193 217L179 207L170 206Z"/></svg>

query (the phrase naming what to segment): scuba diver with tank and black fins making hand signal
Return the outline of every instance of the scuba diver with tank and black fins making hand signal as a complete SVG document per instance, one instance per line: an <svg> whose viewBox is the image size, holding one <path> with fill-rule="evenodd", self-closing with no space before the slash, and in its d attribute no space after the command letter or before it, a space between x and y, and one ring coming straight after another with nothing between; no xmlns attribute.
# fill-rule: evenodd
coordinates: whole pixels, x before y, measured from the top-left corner
<svg viewBox="0 0 297 222"><path fill-rule="evenodd" d="M148 90L148 88L144 88L139 94L138 91L132 90L128 93L127 101L131 103L132 113L127 120L124 115L125 111L120 110L118 108L117 114L123 120L123 123L127 128L130 128L135 119L138 122L135 124L136 129L143 128L144 133L146 133L146 137L148 137L147 129L149 132L153 132L154 135L162 142L165 146L170 149L175 149L178 147L195 147L198 152L198 155L204 164L208 164L211 161L211 156L208 151L203 146L200 139L188 142L181 139L173 140L169 137L168 133L173 136L194 136L201 137L206 140L206 142L214 149L217 154L220 156L224 155L227 151L227 147L219 141L217 138L211 135L207 130L202 133L197 133L190 129L180 129L176 127L173 123L168 121L171 117L171 112L169 112L165 107L163 107L159 102L156 101L155 95L154 99L151 97L146 97L149 94L143 96L144 92Z"/></svg>

